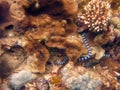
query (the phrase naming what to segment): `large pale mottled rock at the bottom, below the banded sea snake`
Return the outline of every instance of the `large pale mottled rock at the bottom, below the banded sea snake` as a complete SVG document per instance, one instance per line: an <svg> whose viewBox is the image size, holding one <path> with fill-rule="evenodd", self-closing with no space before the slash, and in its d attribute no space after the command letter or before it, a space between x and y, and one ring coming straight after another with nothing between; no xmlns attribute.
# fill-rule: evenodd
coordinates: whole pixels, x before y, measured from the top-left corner
<svg viewBox="0 0 120 90"><path fill-rule="evenodd" d="M71 63L68 63L61 70L62 81L69 90L97 90L96 88L101 87L102 80L99 75L86 71L83 67L72 67L70 65ZM84 71L82 72L80 69Z"/></svg>

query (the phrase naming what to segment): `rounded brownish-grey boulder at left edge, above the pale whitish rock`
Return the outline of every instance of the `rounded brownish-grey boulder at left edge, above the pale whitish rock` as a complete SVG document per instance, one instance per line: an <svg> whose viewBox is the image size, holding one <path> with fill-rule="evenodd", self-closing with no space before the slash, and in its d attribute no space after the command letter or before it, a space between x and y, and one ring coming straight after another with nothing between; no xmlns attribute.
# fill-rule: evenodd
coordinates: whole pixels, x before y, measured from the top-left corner
<svg viewBox="0 0 120 90"><path fill-rule="evenodd" d="M0 77L6 78L26 59L26 53L20 46L13 46L0 56Z"/></svg>

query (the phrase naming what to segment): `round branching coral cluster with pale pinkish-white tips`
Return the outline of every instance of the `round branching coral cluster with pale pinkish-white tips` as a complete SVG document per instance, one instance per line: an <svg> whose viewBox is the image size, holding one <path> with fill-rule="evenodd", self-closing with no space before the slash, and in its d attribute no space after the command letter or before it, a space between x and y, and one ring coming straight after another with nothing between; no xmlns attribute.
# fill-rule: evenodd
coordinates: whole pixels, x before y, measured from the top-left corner
<svg viewBox="0 0 120 90"><path fill-rule="evenodd" d="M84 12L79 13L78 21L84 23L93 32L106 31L110 16L110 5L107 1L91 0L84 7Z"/></svg>

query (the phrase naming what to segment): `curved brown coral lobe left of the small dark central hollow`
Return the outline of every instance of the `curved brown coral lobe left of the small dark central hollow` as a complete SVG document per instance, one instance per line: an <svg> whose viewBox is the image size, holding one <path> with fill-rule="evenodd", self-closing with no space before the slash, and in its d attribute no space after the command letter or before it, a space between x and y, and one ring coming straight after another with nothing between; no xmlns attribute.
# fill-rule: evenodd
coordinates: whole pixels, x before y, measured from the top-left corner
<svg viewBox="0 0 120 90"><path fill-rule="evenodd" d="M29 55L35 55L37 57L38 60L35 61L34 64L37 66L39 73L44 73L46 62L49 59L47 48L38 42L30 41L25 46L25 49Z"/></svg>

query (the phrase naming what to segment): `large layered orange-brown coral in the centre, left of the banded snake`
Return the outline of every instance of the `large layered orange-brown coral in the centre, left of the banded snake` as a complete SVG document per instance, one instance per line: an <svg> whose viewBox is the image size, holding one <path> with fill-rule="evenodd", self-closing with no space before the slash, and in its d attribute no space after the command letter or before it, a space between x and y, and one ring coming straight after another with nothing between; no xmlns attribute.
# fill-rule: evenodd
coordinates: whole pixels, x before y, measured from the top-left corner
<svg viewBox="0 0 120 90"><path fill-rule="evenodd" d="M67 27L69 23L67 24L67 21L64 19L59 21L46 14L36 17L30 16L29 19L31 20L30 25L33 27L33 30L25 32L28 40L35 42L44 41L47 47L66 49L66 54L69 59L74 62L76 62L81 54L86 54L86 49L82 50L85 47L81 36L75 33L76 30L71 30L70 28L65 29L64 27ZM70 25L76 27L72 23ZM74 54L72 54L73 50Z"/></svg>

